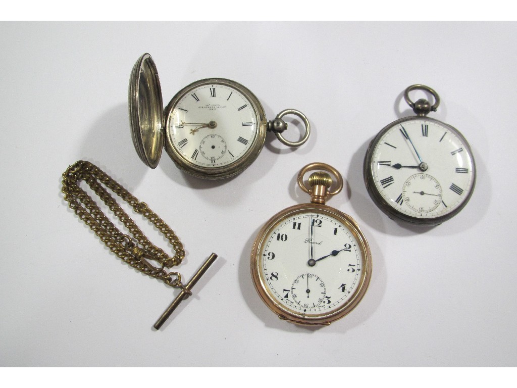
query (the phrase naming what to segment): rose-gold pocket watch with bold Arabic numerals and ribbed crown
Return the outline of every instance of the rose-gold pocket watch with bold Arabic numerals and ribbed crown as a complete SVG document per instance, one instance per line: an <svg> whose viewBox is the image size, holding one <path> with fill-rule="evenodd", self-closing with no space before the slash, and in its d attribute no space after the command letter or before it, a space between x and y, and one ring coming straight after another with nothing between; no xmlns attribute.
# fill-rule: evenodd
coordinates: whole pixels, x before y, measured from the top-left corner
<svg viewBox="0 0 517 388"><path fill-rule="evenodd" d="M303 176L310 170L309 186ZM332 178L337 185L330 191ZM357 222L325 200L343 187L341 174L311 163L298 174L311 203L277 213L258 233L251 252L251 276L262 301L280 319L329 325L361 301L372 273L366 237Z"/></svg>

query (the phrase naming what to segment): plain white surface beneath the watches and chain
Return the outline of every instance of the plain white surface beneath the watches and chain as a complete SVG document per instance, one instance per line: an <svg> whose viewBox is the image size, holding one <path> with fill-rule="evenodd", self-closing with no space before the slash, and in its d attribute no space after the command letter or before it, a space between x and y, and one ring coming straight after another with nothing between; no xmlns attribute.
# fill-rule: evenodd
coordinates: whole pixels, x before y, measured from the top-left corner
<svg viewBox="0 0 517 388"><path fill-rule="evenodd" d="M0 24L0 364L516 366L515 42L515 23ZM269 133L255 163L226 181L187 176L165 153L145 167L127 113L144 52L165 104L195 80L229 78L269 120L304 112L310 140L291 150ZM411 113L402 93L414 83L438 92L432 117L463 133L478 169L468 205L435 228L391 221L362 180L370 140ZM158 332L177 290L121 263L69 210L60 175L79 159L169 223L185 278L219 255ZM342 173L347 188L328 204L357 220L373 255L363 301L318 330L280 321L249 274L261 226L307 202L295 177L313 161Z"/></svg>

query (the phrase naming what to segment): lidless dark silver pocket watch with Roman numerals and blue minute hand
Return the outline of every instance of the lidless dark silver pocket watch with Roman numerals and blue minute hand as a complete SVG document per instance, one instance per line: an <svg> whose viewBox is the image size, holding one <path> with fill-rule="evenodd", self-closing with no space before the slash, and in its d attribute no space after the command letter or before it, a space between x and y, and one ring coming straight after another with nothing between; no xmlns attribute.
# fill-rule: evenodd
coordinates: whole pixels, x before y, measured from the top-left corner
<svg viewBox="0 0 517 388"><path fill-rule="evenodd" d="M420 89L434 97L413 102ZM364 183L370 197L390 218L415 225L439 225L467 204L476 182L474 156L463 135L427 117L440 103L429 86L411 85L404 99L416 116L384 127L364 158Z"/></svg>

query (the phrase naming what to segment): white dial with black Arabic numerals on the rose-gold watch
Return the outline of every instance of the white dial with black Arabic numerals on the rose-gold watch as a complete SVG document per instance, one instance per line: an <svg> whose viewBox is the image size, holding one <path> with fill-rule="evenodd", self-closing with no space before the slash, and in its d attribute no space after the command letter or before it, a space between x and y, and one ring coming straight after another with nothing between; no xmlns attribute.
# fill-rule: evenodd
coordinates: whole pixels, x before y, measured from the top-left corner
<svg viewBox="0 0 517 388"><path fill-rule="evenodd" d="M368 285L363 271L366 266L369 273L371 264L359 228L325 208L300 208L270 220L256 252L262 294L291 320L340 318Z"/></svg>

